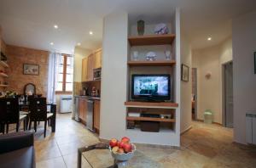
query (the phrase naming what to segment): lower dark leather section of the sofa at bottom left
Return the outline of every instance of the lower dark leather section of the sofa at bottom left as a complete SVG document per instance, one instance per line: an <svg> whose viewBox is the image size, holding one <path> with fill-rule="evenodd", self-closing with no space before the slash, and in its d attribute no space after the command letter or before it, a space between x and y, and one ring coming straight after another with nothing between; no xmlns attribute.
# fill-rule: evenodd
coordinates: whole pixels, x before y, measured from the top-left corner
<svg viewBox="0 0 256 168"><path fill-rule="evenodd" d="M14 150L9 153L0 154L1 168L19 167L31 168L35 167L34 148L27 147Z"/></svg>

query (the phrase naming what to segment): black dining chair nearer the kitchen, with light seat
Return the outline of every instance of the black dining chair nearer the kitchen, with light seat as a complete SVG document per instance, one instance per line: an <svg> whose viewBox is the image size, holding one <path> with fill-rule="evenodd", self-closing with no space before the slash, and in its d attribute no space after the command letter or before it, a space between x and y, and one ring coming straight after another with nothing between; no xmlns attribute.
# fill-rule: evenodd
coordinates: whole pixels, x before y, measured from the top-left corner
<svg viewBox="0 0 256 168"><path fill-rule="evenodd" d="M34 129L37 132L37 122L44 121L44 137L46 136L47 121L53 119L53 114L47 112L46 98L32 98L29 102L29 109L31 111L29 129L31 129L32 121L34 122Z"/></svg>

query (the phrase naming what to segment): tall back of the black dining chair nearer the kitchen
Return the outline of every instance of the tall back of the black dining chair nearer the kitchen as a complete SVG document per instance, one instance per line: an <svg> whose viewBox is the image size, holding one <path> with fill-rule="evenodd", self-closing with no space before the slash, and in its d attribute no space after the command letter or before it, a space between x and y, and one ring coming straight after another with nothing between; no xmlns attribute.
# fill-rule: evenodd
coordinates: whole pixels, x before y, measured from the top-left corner
<svg viewBox="0 0 256 168"><path fill-rule="evenodd" d="M43 121L47 119L46 98L31 98L29 109L31 110L32 121Z"/></svg>

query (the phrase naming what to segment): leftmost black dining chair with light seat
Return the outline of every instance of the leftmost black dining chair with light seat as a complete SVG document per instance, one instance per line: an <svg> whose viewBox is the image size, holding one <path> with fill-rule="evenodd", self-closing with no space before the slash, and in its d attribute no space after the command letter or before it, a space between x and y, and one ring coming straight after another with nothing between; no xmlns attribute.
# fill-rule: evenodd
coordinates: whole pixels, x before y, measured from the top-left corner
<svg viewBox="0 0 256 168"><path fill-rule="evenodd" d="M19 132L20 122L24 123L26 130L26 115L20 114L18 98L0 98L1 120L6 125L6 132L9 132L9 124L16 124L16 132ZM4 132L4 130L3 130Z"/></svg>

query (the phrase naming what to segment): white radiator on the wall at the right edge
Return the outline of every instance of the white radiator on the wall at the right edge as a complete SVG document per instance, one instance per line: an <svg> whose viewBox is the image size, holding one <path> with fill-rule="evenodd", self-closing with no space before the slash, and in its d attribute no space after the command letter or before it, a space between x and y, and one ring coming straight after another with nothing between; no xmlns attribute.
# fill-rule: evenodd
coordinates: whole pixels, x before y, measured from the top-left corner
<svg viewBox="0 0 256 168"><path fill-rule="evenodd" d="M256 144L256 113L247 113L247 143Z"/></svg>

